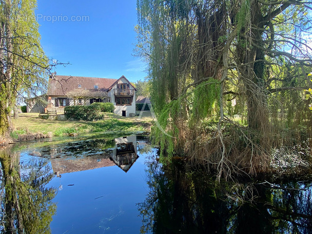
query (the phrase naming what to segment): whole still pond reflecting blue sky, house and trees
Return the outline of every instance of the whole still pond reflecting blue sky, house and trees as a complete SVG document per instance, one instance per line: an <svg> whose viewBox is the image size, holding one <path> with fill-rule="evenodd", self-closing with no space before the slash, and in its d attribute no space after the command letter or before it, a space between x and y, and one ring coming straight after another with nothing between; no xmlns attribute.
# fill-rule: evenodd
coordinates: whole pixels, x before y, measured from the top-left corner
<svg viewBox="0 0 312 234"><path fill-rule="evenodd" d="M0 151L2 233L311 233L312 186L217 183L163 166L146 136L96 135Z"/></svg>

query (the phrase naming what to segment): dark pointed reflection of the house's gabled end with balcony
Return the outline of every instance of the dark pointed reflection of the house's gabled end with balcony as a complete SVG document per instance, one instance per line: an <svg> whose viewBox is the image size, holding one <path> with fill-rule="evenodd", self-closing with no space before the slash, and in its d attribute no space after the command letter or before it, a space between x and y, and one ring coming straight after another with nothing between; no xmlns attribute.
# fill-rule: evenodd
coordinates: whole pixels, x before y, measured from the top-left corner
<svg viewBox="0 0 312 234"><path fill-rule="evenodd" d="M113 149L111 160L127 172L138 159L136 154L136 136L131 135L124 138L116 138L116 148Z"/></svg>

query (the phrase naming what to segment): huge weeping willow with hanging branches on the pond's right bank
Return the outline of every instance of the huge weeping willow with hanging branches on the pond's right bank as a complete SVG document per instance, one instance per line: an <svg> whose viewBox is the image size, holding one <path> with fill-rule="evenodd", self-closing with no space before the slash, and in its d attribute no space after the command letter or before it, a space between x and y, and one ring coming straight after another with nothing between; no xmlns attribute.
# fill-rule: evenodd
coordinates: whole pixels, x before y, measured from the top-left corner
<svg viewBox="0 0 312 234"><path fill-rule="evenodd" d="M309 129L310 9L306 1L138 0L137 48L167 154L200 160L219 178L256 173L298 124Z"/></svg>

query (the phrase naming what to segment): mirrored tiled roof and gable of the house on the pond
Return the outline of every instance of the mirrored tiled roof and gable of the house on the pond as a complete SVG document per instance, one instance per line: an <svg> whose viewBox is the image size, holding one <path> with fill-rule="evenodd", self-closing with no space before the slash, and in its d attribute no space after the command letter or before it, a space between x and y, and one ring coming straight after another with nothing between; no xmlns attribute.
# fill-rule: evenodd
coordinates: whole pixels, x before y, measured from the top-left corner
<svg viewBox="0 0 312 234"><path fill-rule="evenodd" d="M57 157L60 150L51 150L51 156ZM61 150L62 154L66 154ZM82 151L83 153L83 151ZM133 163L138 159L136 154L136 136L125 136L115 139L115 147L107 152L95 155L86 155L76 159L60 157L51 158L52 169L57 176L75 171L91 170L101 167L117 165L127 172Z"/></svg>

